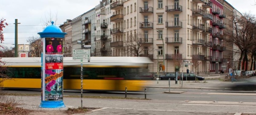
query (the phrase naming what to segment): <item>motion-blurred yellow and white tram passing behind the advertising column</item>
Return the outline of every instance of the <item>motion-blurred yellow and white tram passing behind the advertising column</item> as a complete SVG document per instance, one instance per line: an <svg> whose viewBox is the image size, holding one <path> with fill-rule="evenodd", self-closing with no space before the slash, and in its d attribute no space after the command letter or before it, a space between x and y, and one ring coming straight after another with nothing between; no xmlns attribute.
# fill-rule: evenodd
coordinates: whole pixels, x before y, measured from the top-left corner
<svg viewBox="0 0 256 115"><path fill-rule="evenodd" d="M4 88L40 89L41 58L2 58L12 79L3 82ZM147 83L137 76L147 71L147 57L91 57L83 62L83 89L93 91L141 91ZM63 57L63 88L81 89L81 61Z"/></svg>

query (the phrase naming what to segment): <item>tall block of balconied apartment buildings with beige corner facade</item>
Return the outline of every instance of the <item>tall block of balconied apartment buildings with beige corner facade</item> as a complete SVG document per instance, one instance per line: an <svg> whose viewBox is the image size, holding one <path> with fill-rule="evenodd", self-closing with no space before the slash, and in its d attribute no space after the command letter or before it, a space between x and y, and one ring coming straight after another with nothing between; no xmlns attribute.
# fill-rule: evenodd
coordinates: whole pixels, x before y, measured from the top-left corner
<svg viewBox="0 0 256 115"><path fill-rule="evenodd" d="M91 56L147 56L151 72L174 72L178 59L180 71L207 74L226 70L233 59L233 45L225 41L233 9L225 0L102 0L72 23L83 25ZM82 38L74 31L73 48L79 48ZM183 60L197 66L185 67Z"/></svg>

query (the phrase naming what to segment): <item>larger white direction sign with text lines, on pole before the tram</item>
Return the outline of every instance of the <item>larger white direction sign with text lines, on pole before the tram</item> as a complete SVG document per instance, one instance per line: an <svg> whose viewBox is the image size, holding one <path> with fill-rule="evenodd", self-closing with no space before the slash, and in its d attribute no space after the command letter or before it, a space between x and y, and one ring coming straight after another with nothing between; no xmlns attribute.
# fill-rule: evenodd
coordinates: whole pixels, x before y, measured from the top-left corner
<svg viewBox="0 0 256 115"><path fill-rule="evenodd" d="M90 60L90 49L73 50L73 60Z"/></svg>

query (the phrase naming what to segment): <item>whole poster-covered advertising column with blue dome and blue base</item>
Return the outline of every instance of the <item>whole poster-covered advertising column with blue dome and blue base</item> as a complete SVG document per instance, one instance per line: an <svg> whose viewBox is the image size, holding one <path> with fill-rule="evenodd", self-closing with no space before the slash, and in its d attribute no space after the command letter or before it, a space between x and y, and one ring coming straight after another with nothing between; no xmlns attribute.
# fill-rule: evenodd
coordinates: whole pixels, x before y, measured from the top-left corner
<svg viewBox="0 0 256 115"><path fill-rule="evenodd" d="M49 25L38 33L43 43L41 104L43 108L65 107L63 103L63 33L58 26Z"/></svg>

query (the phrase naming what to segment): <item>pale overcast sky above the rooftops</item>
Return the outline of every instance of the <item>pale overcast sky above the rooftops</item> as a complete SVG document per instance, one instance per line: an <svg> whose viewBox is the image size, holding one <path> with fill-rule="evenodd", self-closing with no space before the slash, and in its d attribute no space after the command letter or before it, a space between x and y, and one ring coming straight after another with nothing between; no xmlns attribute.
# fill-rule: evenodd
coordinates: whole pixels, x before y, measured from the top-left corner
<svg viewBox="0 0 256 115"><path fill-rule="evenodd" d="M15 19L18 19L18 43L27 43L28 37L39 37L43 31L46 17L50 14L56 25L67 19L74 19L94 8L100 0L0 0L0 18L6 19L9 25L4 28L4 44L13 46L15 43ZM226 0L241 13L249 12L256 15L256 0ZM254 6L253 6L254 5ZM55 18L57 16L57 19Z"/></svg>

